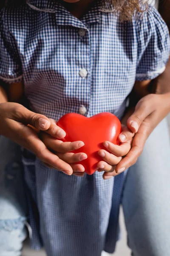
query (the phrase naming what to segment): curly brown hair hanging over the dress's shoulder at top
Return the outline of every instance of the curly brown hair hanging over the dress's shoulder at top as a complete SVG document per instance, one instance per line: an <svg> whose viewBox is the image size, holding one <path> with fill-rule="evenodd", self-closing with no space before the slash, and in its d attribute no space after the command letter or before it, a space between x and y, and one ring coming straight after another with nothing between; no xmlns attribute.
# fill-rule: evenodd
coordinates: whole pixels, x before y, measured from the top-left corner
<svg viewBox="0 0 170 256"><path fill-rule="evenodd" d="M22 4L26 0L0 0L8 4ZM50 1L50 0L49 0ZM148 0L101 0L104 12L114 12L121 20L130 20L133 15L142 14L147 9Z"/></svg>

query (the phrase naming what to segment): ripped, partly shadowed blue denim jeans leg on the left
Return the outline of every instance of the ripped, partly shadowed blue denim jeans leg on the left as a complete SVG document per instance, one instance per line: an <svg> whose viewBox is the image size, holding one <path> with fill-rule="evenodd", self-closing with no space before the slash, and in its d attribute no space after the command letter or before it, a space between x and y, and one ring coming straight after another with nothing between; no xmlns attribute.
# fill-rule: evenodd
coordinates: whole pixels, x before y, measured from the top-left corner
<svg viewBox="0 0 170 256"><path fill-rule="evenodd" d="M20 146L0 137L0 256L20 256L27 236Z"/></svg>

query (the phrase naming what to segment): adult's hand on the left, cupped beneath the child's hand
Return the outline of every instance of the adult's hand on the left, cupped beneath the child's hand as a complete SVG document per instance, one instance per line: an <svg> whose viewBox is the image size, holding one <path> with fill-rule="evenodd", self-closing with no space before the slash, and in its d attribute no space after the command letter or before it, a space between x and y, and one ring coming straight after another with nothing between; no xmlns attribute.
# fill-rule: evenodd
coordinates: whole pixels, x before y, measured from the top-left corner
<svg viewBox="0 0 170 256"><path fill-rule="evenodd" d="M6 102L0 104L0 135L8 137L24 148L32 151L42 162L52 166L54 169L72 175L73 169L71 165L59 159L56 154L49 151L40 140L37 132L28 127L28 125L40 131L46 131L50 136L58 139L65 137L65 131L57 125L55 125L55 127L54 125L51 126L51 121L46 116L29 111L18 103ZM79 147L78 143L79 142L71 144L70 149ZM60 146L60 148L65 150L66 148L68 149L69 146L67 147L65 144L64 147ZM70 160L73 159L74 157L70 157ZM82 169L82 167L80 169Z"/></svg>

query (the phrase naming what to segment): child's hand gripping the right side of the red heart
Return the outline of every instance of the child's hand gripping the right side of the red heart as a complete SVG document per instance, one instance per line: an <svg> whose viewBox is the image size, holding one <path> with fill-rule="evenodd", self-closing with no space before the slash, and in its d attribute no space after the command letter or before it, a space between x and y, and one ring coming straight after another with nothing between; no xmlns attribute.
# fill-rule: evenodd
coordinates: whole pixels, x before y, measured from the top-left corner
<svg viewBox="0 0 170 256"><path fill-rule="evenodd" d="M105 171L103 178L105 180L111 179L124 170L116 170L116 166L122 158L130 151L133 141L134 133L130 131L125 125L122 125L122 133L119 135L120 144L115 145L109 141L105 141L103 145L107 150L99 150L98 154L103 158L103 161L98 163L98 172ZM126 141L125 141L126 140ZM124 142L125 141L125 142Z"/></svg>

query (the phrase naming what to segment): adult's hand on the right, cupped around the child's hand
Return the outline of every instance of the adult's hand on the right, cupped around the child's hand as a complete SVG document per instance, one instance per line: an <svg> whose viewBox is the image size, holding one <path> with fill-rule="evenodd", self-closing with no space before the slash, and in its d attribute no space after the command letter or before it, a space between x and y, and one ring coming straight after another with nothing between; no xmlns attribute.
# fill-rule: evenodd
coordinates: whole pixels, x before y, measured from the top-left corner
<svg viewBox="0 0 170 256"><path fill-rule="evenodd" d="M125 169L136 163L138 157L142 154L147 138L169 112L170 93L149 94L138 102L134 113L127 119L127 127L135 133L132 148L116 166L115 172L117 174L124 172ZM121 140L121 137L123 140ZM128 140L127 132L123 131L119 139L125 143Z"/></svg>

